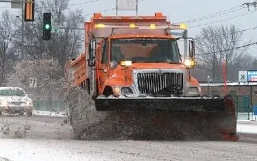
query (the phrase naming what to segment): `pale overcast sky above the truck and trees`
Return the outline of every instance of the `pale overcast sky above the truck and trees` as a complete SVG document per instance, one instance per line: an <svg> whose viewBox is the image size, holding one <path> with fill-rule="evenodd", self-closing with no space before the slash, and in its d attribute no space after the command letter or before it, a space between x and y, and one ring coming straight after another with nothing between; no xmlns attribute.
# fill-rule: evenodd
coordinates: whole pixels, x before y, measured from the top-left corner
<svg viewBox="0 0 257 161"><path fill-rule="evenodd" d="M38 1L38 0L36 0ZM86 20L90 19L90 16L93 12L108 10L115 7L115 0L70 0L70 4L84 3L86 1L91 1L86 4L77 4L70 5L71 10L83 9ZM92 2L93 1L93 2ZM138 3L138 13L140 15L154 15L154 12L162 12L165 16L168 16L169 21L173 23L184 22L192 20L193 18L199 18L201 16L207 16L216 12L222 12L223 10L228 10L243 3L250 2L254 0L215 0L215 1L206 1L206 0L144 0ZM0 3L0 12L3 10L10 10L12 12L17 12L17 9L10 9L10 3ZM201 31L202 27L206 27L206 24L211 26L219 25L236 25L238 29L249 29L257 26L257 12L254 8L250 8L248 11L247 8L242 10L228 10L228 14L223 14L222 16L215 16L212 18L207 18L203 21L196 21L194 23L188 24L188 34L189 36L196 36ZM18 10L19 11L19 10ZM114 15L115 10L110 10L104 12L105 15ZM134 12L120 12L120 14L134 14ZM233 18L235 17L236 18ZM216 21L221 21L220 23L212 23ZM193 27L201 25L198 27ZM243 33L242 45L248 44L249 41L257 42L257 29L249 30ZM257 45L249 47L249 53L257 56Z"/></svg>

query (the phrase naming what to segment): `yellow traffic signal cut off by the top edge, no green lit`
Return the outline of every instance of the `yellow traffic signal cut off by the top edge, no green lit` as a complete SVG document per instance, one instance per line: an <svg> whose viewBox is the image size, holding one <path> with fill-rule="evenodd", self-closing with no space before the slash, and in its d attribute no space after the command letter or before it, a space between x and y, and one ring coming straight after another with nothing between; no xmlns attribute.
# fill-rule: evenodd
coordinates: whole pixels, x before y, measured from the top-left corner
<svg viewBox="0 0 257 161"><path fill-rule="evenodd" d="M35 0L25 1L24 21L34 21Z"/></svg>

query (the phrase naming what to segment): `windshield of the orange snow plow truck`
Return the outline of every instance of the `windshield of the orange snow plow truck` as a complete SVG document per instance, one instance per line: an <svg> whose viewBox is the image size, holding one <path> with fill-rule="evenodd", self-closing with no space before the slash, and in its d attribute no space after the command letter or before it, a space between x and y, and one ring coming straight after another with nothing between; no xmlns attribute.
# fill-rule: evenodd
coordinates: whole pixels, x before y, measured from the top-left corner
<svg viewBox="0 0 257 161"><path fill-rule="evenodd" d="M179 63L180 52L175 39L122 38L112 40L111 60L132 62Z"/></svg>

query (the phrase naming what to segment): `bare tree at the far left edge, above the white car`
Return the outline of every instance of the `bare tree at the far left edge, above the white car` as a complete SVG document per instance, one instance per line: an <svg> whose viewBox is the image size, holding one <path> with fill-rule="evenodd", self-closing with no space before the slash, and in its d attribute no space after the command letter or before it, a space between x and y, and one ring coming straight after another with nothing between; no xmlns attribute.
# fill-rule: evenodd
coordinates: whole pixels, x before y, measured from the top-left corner
<svg viewBox="0 0 257 161"><path fill-rule="evenodd" d="M11 50L12 47L12 15L8 10L2 12L2 19L0 19L0 86L6 84L8 71L13 67L16 53Z"/></svg>

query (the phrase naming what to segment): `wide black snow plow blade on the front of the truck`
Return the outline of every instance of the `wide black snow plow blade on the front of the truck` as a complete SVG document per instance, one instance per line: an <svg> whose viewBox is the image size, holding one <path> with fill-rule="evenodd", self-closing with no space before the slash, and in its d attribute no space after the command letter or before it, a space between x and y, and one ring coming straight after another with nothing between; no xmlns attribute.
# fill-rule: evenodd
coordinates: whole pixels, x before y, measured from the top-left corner
<svg viewBox="0 0 257 161"><path fill-rule="evenodd" d="M144 136L159 138L238 140L236 109L230 96L224 98L96 99L99 111L113 112L123 127L140 126ZM115 119L116 118L116 119ZM117 119L119 118L119 119ZM140 134L142 135L142 134ZM154 137L158 136L157 133ZM204 139L205 140L205 139Z"/></svg>

